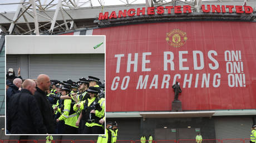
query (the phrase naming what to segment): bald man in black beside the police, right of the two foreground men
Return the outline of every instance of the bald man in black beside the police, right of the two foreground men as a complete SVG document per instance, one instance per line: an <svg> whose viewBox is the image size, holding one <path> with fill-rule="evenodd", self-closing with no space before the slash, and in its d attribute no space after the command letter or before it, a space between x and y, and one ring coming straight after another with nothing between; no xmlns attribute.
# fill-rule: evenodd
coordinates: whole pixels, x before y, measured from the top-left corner
<svg viewBox="0 0 256 143"><path fill-rule="evenodd" d="M35 98L37 100L37 104L39 106L41 114L43 116L43 124L46 126L48 134L56 134L56 121L54 120L55 114L46 96L46 91L50 89L50 84L51 81L48 75L38 75Z"/></svg>

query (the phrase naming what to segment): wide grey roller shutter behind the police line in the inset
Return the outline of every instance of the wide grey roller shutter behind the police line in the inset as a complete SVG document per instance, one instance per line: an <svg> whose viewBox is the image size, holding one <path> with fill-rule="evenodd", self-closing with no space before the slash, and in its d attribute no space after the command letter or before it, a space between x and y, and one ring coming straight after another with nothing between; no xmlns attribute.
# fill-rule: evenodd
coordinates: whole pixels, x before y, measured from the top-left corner
<svg viewBox="0 0 256 143"><path fill-rule="evenodd" d="M50 79L78 81L89 75L105 80L104 54L29 55L29 78L46 74Z"/></svg>

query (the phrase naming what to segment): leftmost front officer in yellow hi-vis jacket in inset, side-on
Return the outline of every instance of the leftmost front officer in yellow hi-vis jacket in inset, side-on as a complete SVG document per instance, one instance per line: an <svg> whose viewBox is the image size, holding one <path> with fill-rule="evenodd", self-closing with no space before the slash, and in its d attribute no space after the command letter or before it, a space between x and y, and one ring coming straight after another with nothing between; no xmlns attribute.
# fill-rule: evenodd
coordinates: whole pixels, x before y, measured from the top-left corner
<svg viewBox="0 0 256 143"><path fill-rule="evenodd" d="M71 86L64 85L61 89L62 95L67 95L71 92L70 90ZM73 110L73 105L75 105L75 102L72 101L72 99L65 99L64 100L64 109L62 111L62 115L60 118L58 118L56 121L65 121L64 125L64 134L77 134L78 133L78 127L76 126L77 121L77 115L76 112Z"/></svg>

